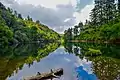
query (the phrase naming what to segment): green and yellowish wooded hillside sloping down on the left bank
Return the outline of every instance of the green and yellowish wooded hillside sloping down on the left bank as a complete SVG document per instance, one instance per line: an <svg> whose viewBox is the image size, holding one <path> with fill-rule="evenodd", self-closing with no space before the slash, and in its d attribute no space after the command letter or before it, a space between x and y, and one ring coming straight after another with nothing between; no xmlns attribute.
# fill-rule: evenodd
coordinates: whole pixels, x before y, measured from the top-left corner
<svg viewBox="0 0 120 80"><path fill-rule="evenodd" d="M6 9L0 3L0 45L53 41L58 40L59 37L58 33L41 24L40 21L34 22L29 16L24 19L17 11Z"/></svg>

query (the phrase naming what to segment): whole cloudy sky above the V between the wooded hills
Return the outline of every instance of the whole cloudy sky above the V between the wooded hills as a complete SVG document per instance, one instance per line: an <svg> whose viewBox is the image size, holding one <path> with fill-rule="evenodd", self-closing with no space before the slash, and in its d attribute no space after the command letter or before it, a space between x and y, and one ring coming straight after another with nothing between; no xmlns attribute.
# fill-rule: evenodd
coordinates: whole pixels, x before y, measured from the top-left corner
<svg viewBox="0 0 120 80"><path fill-rule="evenodd" d="M80 21L85 22L94 7L93 0L0 0L0 2L24 17L29 15L33 20L40 20L58 33L63 33Z"/></svg>

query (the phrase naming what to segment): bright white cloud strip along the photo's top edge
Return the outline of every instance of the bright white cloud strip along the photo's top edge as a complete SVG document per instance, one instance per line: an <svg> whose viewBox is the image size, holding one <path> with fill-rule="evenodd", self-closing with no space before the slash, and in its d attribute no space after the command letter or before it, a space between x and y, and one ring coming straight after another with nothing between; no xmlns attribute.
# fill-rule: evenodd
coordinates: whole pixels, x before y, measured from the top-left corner
<svg viewBox="0 0 120 80"><path fill-rule="evenodd" d="M41 5L46 8L56 8L56 5L63 4L67 5L71 3L73 6L76 5L76 0L16 0L20 4L32 4L35 6Z"/></svg>

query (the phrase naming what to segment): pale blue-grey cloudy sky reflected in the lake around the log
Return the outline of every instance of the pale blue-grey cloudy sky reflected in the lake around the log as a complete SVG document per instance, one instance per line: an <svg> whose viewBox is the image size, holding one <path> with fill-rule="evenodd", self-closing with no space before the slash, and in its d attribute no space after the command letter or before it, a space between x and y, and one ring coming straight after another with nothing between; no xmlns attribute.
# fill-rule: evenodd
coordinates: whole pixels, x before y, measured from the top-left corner
<svg viewBox="0 0 120 80"><path fill-rule="evenodd" d="M50 69L58 68L63 68L64 74L60 79L53 80L78 80L76 68L79 66L82 66L87 74L93 73L91 69L92 62L86 59L81 60L79 57L75 56L75 54L65 52L64 47L60 47L40 60L40 62L34 61L31 67L24 64L22 70L19 70L17 74L14 73L11 77L7 78L7 80L21 80L25 77L33 76L37 72L50 72Z"/></svg>

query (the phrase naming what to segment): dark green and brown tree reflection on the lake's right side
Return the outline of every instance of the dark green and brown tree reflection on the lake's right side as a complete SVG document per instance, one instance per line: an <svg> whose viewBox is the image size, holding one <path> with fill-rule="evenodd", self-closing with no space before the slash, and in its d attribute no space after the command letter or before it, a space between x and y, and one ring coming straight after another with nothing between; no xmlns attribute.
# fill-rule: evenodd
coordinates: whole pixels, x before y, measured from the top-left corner
<svg viewBox="0 0 120 80"><path fill-rule="evenodd" d="M65 48L66 51L73 52L81 59L86 58L89 61L92 61L92 69L93 72L98 77L98 79L120 80L120 46L119 45L66 43ZM102 53L102 55L95 54L91 56L90 55L86 56L86 53L90 52L89 49L93 51L98 50ZM80 53L78 50L80 50Z"/></svg>

